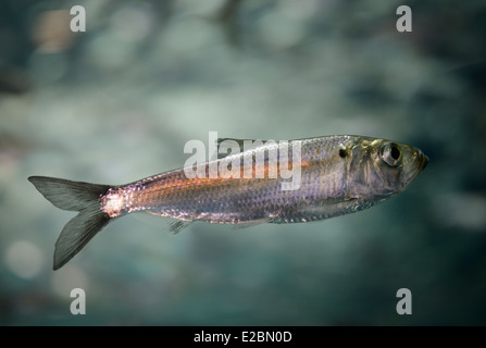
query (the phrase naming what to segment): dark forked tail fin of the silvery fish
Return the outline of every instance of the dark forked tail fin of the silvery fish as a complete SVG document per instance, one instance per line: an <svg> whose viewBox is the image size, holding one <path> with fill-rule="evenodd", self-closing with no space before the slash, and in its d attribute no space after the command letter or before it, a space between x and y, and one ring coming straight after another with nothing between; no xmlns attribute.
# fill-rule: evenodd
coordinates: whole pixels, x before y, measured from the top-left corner
<svg viewBox="0 0 486 348"><path fill-rule="evenodd" d="M110 217L100 210L99 198L110 186L46 176L30 176L28 181L55 207L79 211L64 226L55 243L53 269L58 270L109 223Z"/></svg>

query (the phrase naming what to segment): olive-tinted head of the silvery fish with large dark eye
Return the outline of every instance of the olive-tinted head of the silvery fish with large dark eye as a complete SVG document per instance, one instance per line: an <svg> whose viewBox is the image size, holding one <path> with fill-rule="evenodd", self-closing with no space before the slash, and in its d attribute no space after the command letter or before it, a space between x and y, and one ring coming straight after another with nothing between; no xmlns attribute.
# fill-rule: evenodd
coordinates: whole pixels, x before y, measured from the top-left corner
<svg viewBox="0 0 486 348"><path fill-rule="evenodd" d="M364 202L386 199L403 191L427 163L428 158L415 147L362 137L351 151L351 191Z"/></svg>

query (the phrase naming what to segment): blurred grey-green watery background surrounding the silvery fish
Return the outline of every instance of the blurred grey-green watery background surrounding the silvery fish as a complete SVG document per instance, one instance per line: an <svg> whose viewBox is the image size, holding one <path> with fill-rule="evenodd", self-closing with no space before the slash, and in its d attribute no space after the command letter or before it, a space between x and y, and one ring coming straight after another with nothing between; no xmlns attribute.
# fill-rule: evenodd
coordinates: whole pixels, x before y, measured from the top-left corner
<svg viewBox="0 0 486 348"><path fill-rule="evenodd" d="M485 61L478 0L2 0L0 324L486 324ZM29 175L128 183L212 130L367 135L431 162L403 194L317 223L171 235L129 215L52 271L74 213Z"/></svg>

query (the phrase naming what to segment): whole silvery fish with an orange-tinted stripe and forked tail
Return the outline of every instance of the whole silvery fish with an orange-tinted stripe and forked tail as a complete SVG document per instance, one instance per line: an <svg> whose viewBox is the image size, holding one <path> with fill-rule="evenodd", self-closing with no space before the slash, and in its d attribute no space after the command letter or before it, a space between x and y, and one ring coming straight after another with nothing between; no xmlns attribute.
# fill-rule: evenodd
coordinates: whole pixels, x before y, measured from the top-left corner
<svg viewBox="0 0 486 348"><path fill-rule="evenodd" d="M220 147L217 158L125 185L28 177L53 206L78 212L55 243L53 270L111 221L129 213L172 217L173 233L195 221L236 227L320 221L367 209L403 191L428 163L419 148L366 136L292 140L286 152L275 141L241 148L245 141L221 138L219 145L236 144L240 151L225 154ZM289 167L299 171L298 185L284 189L289 177L278 174Z"/></svg>

